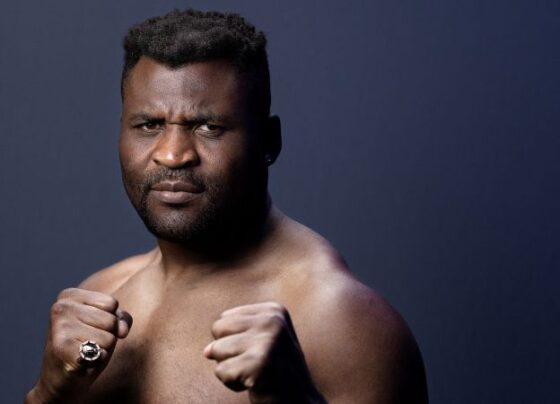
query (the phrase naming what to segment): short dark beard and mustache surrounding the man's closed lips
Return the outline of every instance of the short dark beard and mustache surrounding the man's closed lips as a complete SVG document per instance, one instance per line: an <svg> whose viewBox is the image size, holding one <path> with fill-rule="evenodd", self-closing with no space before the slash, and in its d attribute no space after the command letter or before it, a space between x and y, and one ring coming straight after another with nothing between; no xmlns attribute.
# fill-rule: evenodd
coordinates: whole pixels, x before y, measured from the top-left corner
<svg viewBox="0 0 560 404"><path fill-rule="evenodd" d="M240 184L232 182L232 178L209 179L190 169L169 168L160 168L136 179L122 167L122 178L132 205L150 233L173 243L200 245L229 237L241 227L248 215L255 213L254 202L260 199L259 191L264 189L266 195L267 182L266 175L264 183ZM200 193L185 205L163 206L150 197L150 190L166 180L189 183Z"/></svg>

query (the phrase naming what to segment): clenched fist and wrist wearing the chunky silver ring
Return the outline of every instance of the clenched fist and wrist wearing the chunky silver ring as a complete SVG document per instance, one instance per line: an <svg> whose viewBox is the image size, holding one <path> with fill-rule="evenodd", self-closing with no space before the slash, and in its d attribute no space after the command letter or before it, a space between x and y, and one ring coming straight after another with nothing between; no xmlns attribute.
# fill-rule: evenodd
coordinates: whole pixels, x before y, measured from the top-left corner
<svg viewBox="0 0 560 404"><path fill-rule="evenodd" d="M110 295L84 289L65 289L58 295L51 307L41 375L26 403L80 401L132 325L130 314L118 305ZM88 340L101 348L101 356L91 363L80 357L80 346Z"/></svg>

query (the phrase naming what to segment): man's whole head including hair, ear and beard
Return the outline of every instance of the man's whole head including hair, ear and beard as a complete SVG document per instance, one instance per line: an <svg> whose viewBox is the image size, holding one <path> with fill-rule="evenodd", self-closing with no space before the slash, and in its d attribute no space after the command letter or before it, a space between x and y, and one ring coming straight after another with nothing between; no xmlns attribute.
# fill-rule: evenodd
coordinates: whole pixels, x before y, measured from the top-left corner
<svg viewBox="0 0 560 404"><path fill-rule="evenodd" d="M212 242L262 215L280 152L265 44L237 15L191 10L127 34L123 181L158 238Z"/></svg>

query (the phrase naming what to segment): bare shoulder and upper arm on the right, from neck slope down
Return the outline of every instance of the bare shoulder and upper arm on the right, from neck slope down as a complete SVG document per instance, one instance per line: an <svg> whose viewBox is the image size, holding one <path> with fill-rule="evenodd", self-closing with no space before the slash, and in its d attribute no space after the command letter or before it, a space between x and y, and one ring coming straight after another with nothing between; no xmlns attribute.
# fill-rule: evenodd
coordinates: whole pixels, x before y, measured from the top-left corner
<svg viewBox="0 0 560 404"><path fill-rule="evenodd" d="M320 391L333 403L427 403L422 356L402 316L326 240L311 232L306 243L292 310Z"/></svg>

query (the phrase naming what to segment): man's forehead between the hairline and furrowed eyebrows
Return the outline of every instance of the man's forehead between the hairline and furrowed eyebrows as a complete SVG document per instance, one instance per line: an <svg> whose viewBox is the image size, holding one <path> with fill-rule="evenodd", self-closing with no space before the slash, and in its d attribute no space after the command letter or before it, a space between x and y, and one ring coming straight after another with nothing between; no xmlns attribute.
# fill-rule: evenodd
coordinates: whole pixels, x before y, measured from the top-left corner
<svg viewBox="0 0 560 404"><path fill-rule="evenodd" d="M225 61L195 62L171 68L142 57L124 82L123 107L171 110L179 113L201 109L240 113L242 80Z"/></svg>

